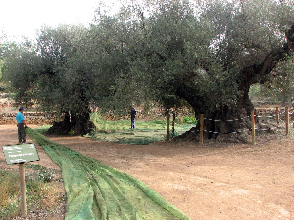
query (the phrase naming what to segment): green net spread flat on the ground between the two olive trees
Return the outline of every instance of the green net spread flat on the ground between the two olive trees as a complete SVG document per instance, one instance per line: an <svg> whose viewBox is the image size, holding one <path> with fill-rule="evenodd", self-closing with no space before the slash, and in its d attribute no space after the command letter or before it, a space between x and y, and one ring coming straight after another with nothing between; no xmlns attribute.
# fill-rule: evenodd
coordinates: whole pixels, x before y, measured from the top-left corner
<svg viewBox="0 0 294 220"><path fill-rule="evenodd" d="M94 123L95 128L91 128L84 137L92 138L95 141L117 142L121 144L149 144L151 142L162 141L166 139L166 120L136 121L136 128L130 130L130 121L107 121L94 111L90 114L90 121ZM181 126L175 120L174 136L178 136L192 127L195 123ZM172 121L170 121L169 138L172 136Z"/></svg>

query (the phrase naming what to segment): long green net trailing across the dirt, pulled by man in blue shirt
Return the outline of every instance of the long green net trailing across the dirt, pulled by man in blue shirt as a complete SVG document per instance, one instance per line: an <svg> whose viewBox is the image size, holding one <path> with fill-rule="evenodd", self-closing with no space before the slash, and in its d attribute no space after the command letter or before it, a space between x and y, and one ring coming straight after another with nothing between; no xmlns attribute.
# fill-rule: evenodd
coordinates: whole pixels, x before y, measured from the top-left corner
<svg viewBox="0 0 294 220"><path fill-rule="evenodd" d="M138 179L27 128L62 169L67 192L65 220L190 219Z"/></svg>

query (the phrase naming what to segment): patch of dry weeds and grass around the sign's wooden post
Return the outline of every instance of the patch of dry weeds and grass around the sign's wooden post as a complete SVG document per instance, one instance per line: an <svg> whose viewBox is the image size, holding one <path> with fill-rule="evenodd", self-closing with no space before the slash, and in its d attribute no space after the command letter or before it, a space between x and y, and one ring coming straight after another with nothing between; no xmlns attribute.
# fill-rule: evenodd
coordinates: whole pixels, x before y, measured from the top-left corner
<svg viewBox="0 0 294 220"><path fill-rule="evenodd" d="M25 219L42 219L56 210L65 209L66 194L60 181L54 181L54 169L26 164L34 170L26 174L26 202L28 216ZM62 212L62 211L61 211ZM0 219L17 219L21 216L21 196L17 170L0 169ZM23 219L23 218L21 218Z"/></svg>

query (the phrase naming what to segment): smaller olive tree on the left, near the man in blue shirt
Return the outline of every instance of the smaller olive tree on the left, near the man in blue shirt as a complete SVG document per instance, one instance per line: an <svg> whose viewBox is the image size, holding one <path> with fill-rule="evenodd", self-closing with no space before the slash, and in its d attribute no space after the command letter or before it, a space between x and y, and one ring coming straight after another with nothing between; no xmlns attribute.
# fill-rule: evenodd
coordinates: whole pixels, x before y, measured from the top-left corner
<svg viewBox="0 0 294 220"><path fill-rule="evenodd" d="M17 91L19 103L29 105L34 101L41 110L64 116L64 121L56 123L50 132L74 130L81 134L89 128L89 107L95 94L104 92L108 85L99 77L99 51L95 50L83 26L43 27L36 47L16 47L6 54L5 76Z"/></svg>

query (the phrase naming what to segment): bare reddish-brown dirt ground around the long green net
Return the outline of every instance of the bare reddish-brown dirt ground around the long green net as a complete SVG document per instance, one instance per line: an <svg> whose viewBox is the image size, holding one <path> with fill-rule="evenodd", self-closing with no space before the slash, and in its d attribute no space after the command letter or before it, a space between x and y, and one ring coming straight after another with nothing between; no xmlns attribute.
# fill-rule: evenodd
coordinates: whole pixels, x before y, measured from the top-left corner
<svg viewBox="0 0 294 220"><path fill-rule="evenodd" d="M30 125L31 128L38 127ZM191 219L294 219L294 132L256 145L162 141L123 145L48 136L145 182ZM28 141L31 141L27 138ZM0 126L1 145L17 144L16 125ZM36 145L40 161L59 169ZM0 168L4 163L0 151ZM47 220L64 217L49 217Z"/></svg>

